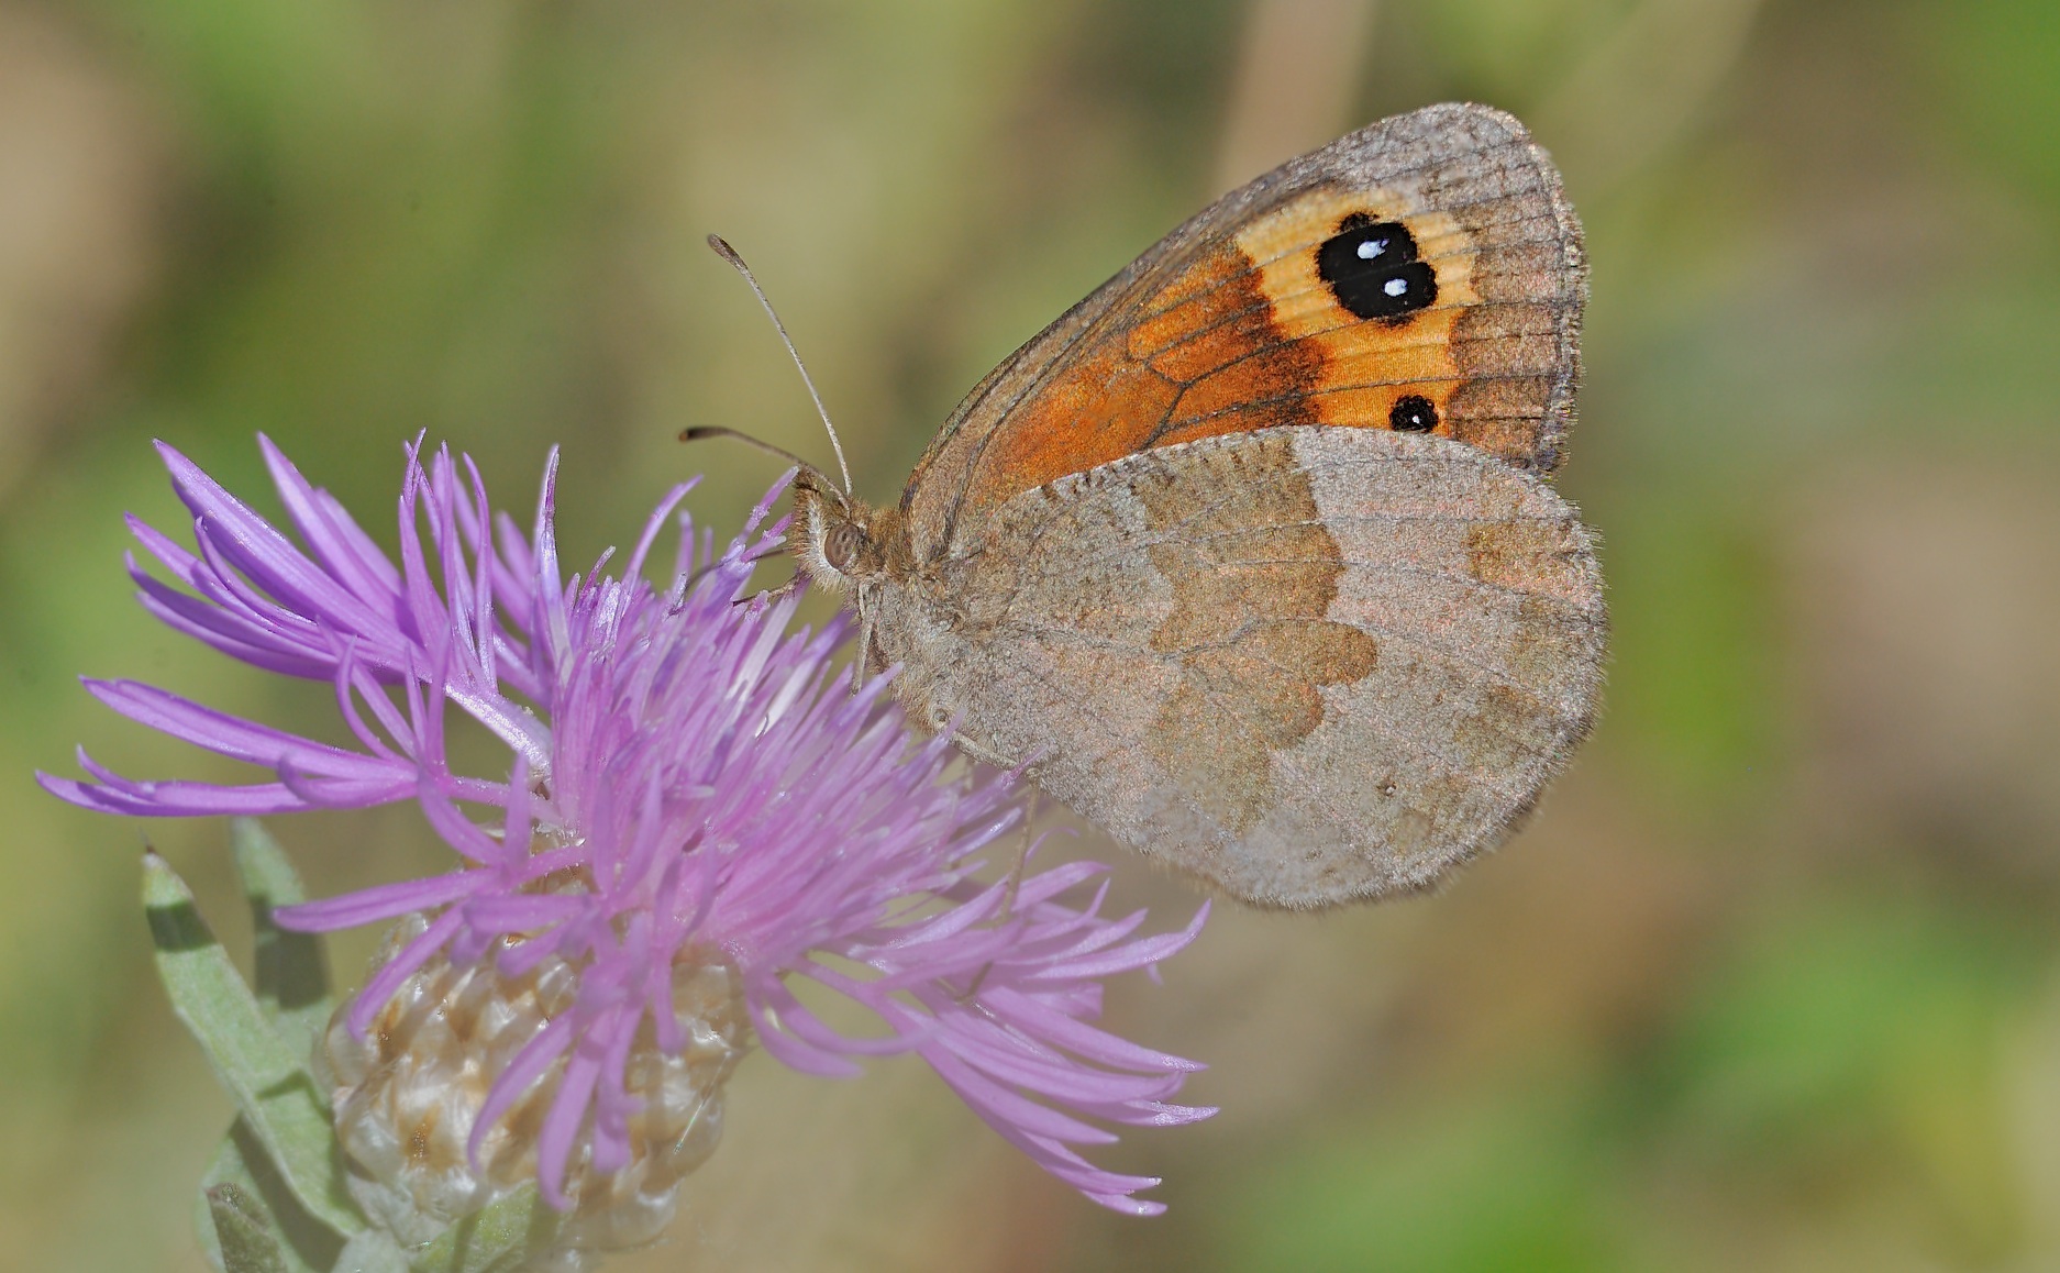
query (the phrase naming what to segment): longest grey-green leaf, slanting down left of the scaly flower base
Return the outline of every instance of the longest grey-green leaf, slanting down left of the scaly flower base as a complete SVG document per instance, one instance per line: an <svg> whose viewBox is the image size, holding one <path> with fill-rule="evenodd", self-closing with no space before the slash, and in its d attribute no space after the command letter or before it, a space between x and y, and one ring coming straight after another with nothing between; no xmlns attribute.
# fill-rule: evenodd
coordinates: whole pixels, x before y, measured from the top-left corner
<svg viewBox="0 0 2060 1273"><path fill-rule="evenodd" d="M157 853L142 859L142 904L171 1009L200 1040L214 1075L293 1197L338 1234L365 1228L344 1191L336 1133L313 1077L272 1032L258 999L200 919L194 894Z"/></svg>

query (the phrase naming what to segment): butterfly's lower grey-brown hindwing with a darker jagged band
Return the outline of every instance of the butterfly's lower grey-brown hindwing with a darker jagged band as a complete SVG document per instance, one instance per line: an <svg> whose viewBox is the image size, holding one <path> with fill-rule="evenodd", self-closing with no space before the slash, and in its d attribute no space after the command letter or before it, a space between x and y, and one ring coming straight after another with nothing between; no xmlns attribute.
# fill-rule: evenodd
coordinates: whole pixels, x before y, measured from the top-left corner
<svg viewBox="0 0 2060 1273"><path fill-rule="evenodd" d="M1601 579L1487 453L1285 426L1022 492L882 597L902 696L1119 838L1316 906L1494 845L1588 727Z"/></svg>

